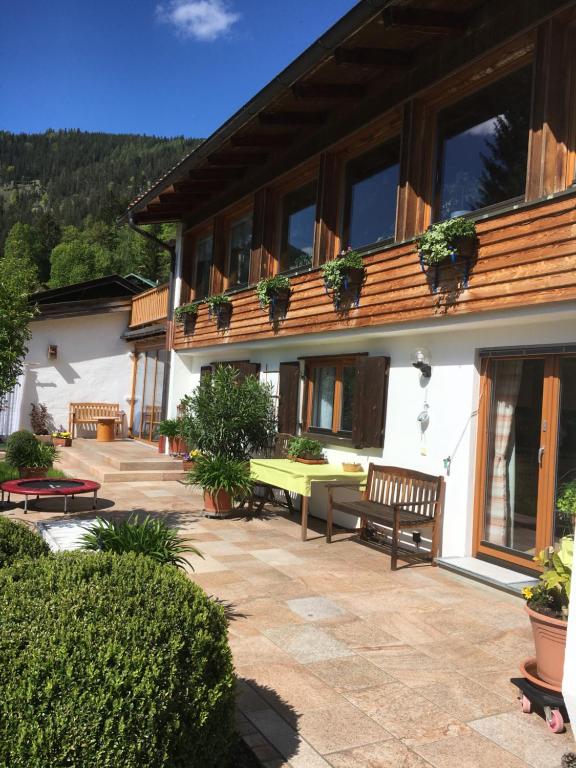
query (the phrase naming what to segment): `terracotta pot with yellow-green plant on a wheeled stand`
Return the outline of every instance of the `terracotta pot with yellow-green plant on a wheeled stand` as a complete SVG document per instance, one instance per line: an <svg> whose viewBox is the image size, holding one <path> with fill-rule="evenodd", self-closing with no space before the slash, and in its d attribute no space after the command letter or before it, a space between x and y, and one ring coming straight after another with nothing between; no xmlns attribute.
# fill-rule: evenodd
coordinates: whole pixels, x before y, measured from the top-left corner
<svg viewBox="0 0 576 768"><path fill-rule="evenodd" d="M526 587L526 610L530 616L536 648L536 674L548 686L561 690L570 602L574 540L542 550L534 558L543 572L536 587Z"/></svg>

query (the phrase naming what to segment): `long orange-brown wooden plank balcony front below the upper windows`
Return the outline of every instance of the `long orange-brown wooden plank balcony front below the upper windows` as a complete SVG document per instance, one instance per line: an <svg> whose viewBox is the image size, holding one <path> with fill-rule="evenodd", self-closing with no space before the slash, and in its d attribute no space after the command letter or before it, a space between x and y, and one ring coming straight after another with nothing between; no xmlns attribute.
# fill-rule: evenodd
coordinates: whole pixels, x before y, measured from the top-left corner
<svg viewBox="0 0 576 768"><path fill-rule="evenodd" d="M434 290L423 274L414 242L364 257L366 279L358 307L337 312L319 269L291 278L286 318L273 325L254 288L231 295L232 319L219 331L201 307L194 331L175 326L174 347L185 349L274 339L298 334L430 321L531 305L576 300L576 207L574 195L525 204L477 222L479 248L467 287L445 274Z"/></svg>

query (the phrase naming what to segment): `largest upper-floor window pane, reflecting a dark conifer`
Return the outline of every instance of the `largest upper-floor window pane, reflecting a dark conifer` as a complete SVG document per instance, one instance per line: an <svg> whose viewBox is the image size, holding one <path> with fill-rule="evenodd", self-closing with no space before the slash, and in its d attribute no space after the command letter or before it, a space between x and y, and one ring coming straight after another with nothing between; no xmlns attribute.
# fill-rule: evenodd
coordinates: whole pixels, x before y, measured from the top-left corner
<svg viewBox="0 0 576 768"><path fill-rule="evenodd" d="M524 195L531 92L524 67L438 114L437 219Z"/></svg>

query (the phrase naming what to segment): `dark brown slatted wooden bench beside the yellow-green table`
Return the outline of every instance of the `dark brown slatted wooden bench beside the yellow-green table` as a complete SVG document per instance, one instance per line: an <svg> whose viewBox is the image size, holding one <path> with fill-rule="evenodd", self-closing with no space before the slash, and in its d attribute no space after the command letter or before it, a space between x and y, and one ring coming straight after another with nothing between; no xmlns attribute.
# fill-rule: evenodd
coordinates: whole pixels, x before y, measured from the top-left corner
<svg viewBox="0 0 576 768"><path fill-rule="evenodd" d="M367 523L375 522L392 528L392 570L398 562L398 539L407 528L432 528L432 565L436 565L440 525L444 507L444 478L425 475L402 467L370 464L366 489L357 501L342 501L335 497L338 488L358 486L327 483L328 516L326 541L332 537L334 510L355 515L361 520L360 536L366 537Z"/></svg>

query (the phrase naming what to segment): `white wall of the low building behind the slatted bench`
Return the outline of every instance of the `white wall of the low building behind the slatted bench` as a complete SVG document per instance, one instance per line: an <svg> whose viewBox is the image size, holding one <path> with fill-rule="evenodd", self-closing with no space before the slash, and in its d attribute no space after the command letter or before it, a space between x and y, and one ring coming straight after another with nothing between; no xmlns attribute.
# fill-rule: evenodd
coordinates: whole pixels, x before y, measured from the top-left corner
<svg viewBox="0 0 576 768"><path fill-rule="evenodd" d="M20 427L30 428L30 403L44 403L54 425L64 429L70 402L118 403L128 416L131 345L120 338L128 321L123 311L33 322ZM49 344L58 346L56 360L48 359Z"/></svg>

